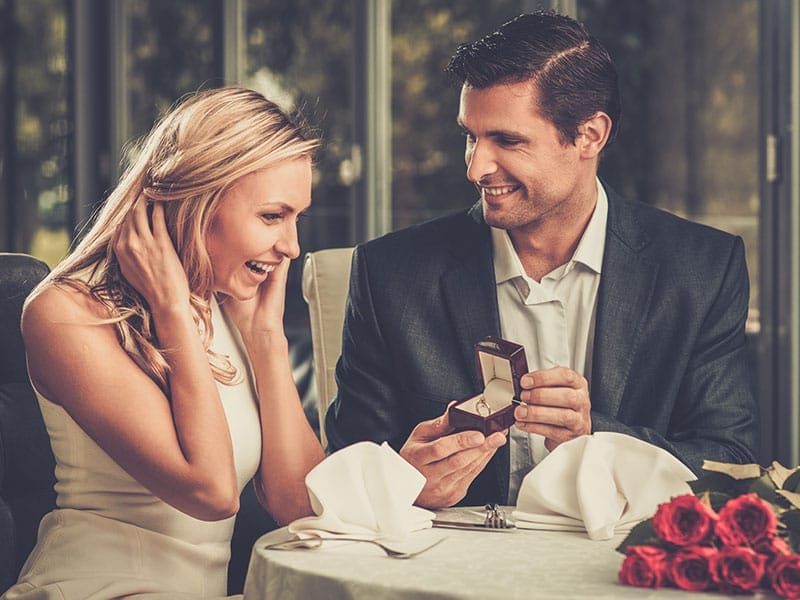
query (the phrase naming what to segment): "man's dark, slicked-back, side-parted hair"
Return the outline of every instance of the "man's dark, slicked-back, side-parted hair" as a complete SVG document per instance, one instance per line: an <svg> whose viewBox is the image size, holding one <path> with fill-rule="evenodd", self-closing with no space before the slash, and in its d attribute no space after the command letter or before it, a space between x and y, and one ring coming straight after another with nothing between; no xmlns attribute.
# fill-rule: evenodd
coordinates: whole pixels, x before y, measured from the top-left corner
<svg viewBox="0 0 800 600"><path fill-rule="evenodd" d="M617 70L606 49L586 27L553 12L520 15L475 42L461 44L446 72L474 88L532 81L539 110L575 142L578 126L597 111L612 122L614 141L622 112Z"/></svg>

